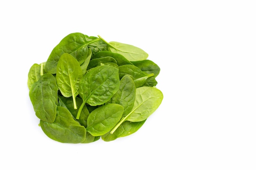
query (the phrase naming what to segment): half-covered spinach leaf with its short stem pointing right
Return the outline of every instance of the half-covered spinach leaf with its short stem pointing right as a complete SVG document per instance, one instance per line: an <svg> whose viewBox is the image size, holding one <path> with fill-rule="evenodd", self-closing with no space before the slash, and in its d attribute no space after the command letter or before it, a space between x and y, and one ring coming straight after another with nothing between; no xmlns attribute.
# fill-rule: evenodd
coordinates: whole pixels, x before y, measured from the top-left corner
<svg viewBox="0 0 256 170"><path fill-rule="evenodd" d="M119 66L119 77L120 79L124 77L124 75L130 75L132 77L136 88L144 86L148 77L152 77L154 74L146 74L141 71L138 67L134 65L122 65Z"/></svg>

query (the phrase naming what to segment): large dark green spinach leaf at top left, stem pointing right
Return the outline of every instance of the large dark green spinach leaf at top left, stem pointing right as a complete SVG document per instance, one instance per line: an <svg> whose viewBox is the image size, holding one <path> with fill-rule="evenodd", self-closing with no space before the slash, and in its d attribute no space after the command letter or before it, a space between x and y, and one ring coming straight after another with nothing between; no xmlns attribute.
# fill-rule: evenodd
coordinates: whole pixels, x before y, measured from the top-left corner
<svg viewBox="0 0 256 170"><path fill-rule="evenodd" d="M86 40L86 37L82 33L71 33L61 40L61 42L54 47L52 53L49 55L49 58L45 65L45 71L47 73L56 73L56 67L58 60L64 53L69 53L79 64L85 62L86 57L88 56L88 44L97 42L100 39Z"/></svg>

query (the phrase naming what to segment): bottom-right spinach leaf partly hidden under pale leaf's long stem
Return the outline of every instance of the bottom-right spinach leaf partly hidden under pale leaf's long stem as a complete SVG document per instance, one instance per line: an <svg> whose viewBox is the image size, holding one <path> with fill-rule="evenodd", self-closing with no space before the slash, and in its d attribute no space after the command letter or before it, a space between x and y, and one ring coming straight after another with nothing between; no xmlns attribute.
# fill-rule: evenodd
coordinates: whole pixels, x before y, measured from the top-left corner
<svg viewBox="0 0 256 170"><path fill-rule="evenodd" d="M146 120L138 122L124 121L124 123L122 123L113 134L108 132L105 135L102 135L101 138L103 141L113 141L119 137L126 137L132 133L137 132L137 130L141 128L145 121Z"/></svg>

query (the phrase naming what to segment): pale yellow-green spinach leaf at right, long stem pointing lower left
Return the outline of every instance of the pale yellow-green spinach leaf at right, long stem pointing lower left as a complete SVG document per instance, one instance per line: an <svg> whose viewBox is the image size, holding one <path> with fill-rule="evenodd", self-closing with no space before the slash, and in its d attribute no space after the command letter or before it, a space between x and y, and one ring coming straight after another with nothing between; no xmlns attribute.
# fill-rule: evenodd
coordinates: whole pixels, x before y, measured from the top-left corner
<svg viewBox="0 0 256 170"><path fill-rule="evenodd" d="M133 108L126 117L123 117L121 121L110 132L113 134L115 130L124 121L144 121L159 107L163 100L163 93L155 87L139 87L136 88L136 96Z"/></svg>

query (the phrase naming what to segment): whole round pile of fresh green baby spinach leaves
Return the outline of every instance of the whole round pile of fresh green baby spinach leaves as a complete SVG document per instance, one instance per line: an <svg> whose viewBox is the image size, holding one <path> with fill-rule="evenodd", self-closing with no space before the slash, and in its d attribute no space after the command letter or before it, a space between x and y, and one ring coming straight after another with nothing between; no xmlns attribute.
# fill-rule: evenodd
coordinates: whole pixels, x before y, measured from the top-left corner
<svg viewBox="0 0 256 170"><path fill-rule="evenodd" d="M67 35L28 73L40 127L62 143L112 141L136 132L159 107L160 68L135 46Z"/></svg>

